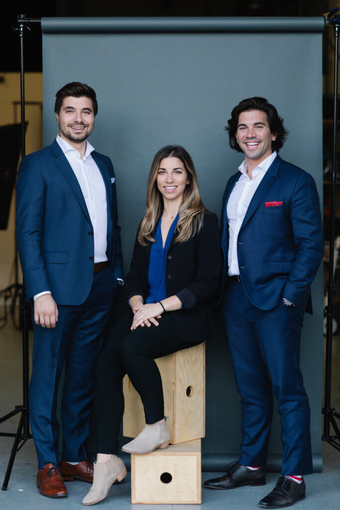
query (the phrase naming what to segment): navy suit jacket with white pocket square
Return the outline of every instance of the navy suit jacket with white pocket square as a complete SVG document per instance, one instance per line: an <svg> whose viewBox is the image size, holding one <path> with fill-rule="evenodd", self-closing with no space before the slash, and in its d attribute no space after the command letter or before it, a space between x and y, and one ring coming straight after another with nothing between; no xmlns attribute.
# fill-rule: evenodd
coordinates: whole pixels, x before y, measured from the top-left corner
<svg viewBox="0 0 340 510"><path fill-rule="evenodd" d="M107 193L107 257L114 276L122 278L114 169L107 156L91 154ZM49 290L57 304L86 300L93 282L93 227L80 185L56 140L20 163L16 242L28 299Z"/></svg>

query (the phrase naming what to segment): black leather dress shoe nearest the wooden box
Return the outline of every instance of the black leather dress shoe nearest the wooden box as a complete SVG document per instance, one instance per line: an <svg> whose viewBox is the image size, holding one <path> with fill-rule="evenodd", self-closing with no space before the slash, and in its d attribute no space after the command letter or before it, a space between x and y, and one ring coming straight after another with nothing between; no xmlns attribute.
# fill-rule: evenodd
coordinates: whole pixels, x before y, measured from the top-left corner
<svg viewBox="0 0 340 510"><path fill-rule="evenodd" d="M205 480L203 485L208 489L236 489L244 485L265 485L265 483L264 468L252 470L247 466L241 466L238 462L233 462L229 464L225 475Z"/></svg>

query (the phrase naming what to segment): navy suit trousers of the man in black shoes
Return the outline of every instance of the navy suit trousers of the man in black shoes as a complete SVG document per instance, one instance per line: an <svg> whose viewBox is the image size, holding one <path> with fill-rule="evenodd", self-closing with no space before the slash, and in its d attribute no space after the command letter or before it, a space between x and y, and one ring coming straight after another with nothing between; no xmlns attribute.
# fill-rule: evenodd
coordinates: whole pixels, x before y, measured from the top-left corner
<svg viewBox="0 0 340 510"><path fill-rule="evenodd" d="M282 427L281 472L312 473L309 402L299 366L303 311L283 302L273 310L260 310L237 281L227 283L222 307L242 397L240 464L266 465L273 390Z"/></svg>

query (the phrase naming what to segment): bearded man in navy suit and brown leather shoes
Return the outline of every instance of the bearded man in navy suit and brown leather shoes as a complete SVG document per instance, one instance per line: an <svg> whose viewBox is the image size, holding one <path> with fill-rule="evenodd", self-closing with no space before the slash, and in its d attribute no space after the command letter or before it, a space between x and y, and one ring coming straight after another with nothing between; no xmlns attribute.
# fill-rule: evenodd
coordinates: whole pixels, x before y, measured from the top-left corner
<svg viewBox="0 0 340 510"><path fill-rule="evenodd" d="M56 94L59 135L23 158L16 183L16 239L27 291L34 302L30 421L38 455L37 486L66 496L64 480L93 480L85 442L95 366L122 282L115 174L87 141L98 106L88 85ZM59 462L57 393L62 399Z"/></svg>

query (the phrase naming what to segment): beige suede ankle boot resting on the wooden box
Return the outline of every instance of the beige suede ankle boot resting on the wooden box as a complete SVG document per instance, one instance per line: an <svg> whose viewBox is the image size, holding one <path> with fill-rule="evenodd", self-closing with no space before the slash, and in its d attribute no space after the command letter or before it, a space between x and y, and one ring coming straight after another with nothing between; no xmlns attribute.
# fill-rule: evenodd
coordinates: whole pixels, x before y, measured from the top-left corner
<svg viewBox="0 0 340 510"><path fill-rule="evenodd" d="M150 453L156 448L167 448L169 441L170 434L165 420L163 423L145 425L137 438L124 445L122 450L127 453Z"/></svg>

